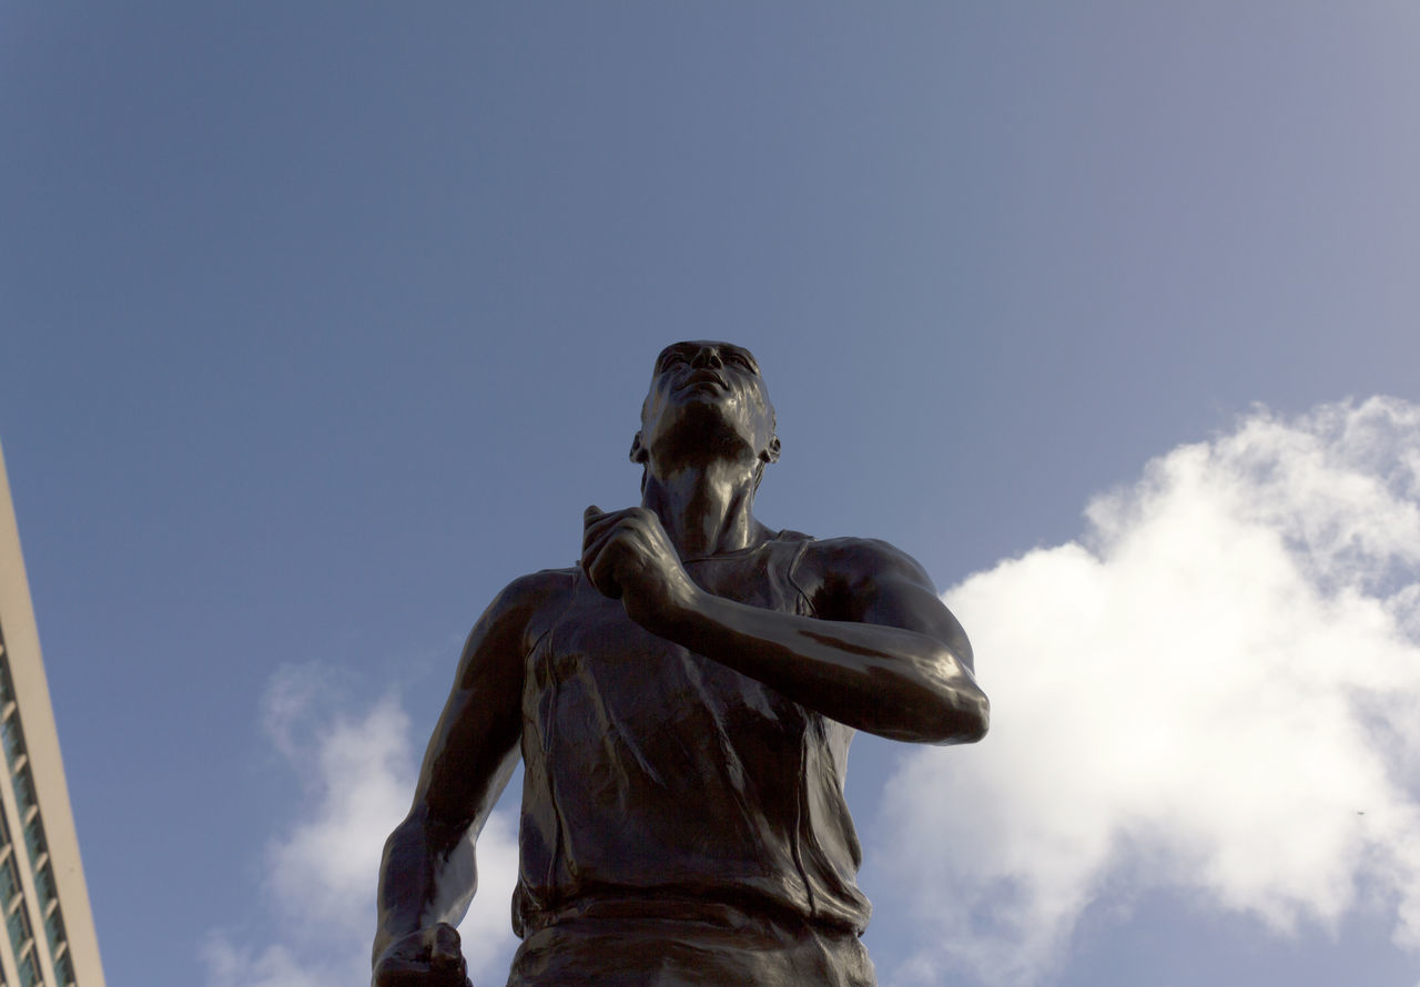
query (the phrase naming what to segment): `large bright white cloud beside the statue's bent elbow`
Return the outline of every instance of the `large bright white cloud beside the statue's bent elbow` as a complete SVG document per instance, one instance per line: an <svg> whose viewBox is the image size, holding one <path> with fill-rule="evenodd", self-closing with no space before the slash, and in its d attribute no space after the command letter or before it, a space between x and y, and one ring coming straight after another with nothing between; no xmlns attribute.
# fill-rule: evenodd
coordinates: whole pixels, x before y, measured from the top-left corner
<svg viewBox="0 0 1420 987"><path fill-rule="evenodd" d="M1257 409L1086 517L944 594L993 729L888 785L896 976L1037 983L1147 889L1284 934L1379 900L1420 949L1420 406Z"/></svg>

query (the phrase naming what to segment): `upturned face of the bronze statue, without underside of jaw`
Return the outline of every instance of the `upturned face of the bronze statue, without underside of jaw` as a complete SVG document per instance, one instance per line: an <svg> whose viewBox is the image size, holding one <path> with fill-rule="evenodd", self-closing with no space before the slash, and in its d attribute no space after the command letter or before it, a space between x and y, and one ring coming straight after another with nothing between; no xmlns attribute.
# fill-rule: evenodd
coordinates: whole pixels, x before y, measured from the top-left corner
<svg viewBox="0 0 1420 987"><path fill-rule="evenodd" d="M640 445L655 449L662 436L686 423L723 429L764 460L775 457L774 406L760 365L744 347L699 339L660 351L642 406Z"/></svg>

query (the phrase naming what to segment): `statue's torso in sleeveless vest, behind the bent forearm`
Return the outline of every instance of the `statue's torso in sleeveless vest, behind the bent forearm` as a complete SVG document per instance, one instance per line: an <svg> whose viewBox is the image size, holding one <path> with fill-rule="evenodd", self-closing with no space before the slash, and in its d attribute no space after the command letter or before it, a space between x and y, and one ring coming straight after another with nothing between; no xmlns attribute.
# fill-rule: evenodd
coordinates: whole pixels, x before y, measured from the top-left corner
<svg viewBox="0 0 1420 987"><path fill-rule="evenodd" d="M781 535L686 568L716 595L809 615L792 581L805 544ZM568 578L525 669L520 933L719 905L861 932L852 731Z"/></svg>

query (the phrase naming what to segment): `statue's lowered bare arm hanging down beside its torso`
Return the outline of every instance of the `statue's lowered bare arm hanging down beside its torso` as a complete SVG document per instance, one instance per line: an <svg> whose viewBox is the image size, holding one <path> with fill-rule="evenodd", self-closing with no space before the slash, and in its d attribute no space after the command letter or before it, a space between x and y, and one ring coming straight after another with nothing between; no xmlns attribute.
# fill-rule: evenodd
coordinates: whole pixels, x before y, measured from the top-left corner
<svg viewBox="0 0 1420 987"><path fill-rule="evenodd" d="M518 758L524 659L568 582L514 581L479 618L379 869L375 987L464 987L459 923L477 889L473 842Z"/></svg>

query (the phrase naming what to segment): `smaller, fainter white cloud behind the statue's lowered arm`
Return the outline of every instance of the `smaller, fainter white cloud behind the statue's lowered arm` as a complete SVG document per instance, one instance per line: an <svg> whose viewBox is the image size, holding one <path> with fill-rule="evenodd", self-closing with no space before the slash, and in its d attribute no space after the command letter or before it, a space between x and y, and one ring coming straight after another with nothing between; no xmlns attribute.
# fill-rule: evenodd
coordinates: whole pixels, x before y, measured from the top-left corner
<svg viewBox="0 0 1420 987"><path fill-rule="evenodd" d="M398 699L352 713L332 709L339 694L317 666L283 669L267 690L264 733L305 780L308 805L266 849L275 942L253 947L214 930L202 949L209 987L369 981L379 856L409 809L415 746ZM459 932L474 983L501 983L517 944L508 919L517 822L507 812L494 812L479 839L479 878Z"/></svg>

